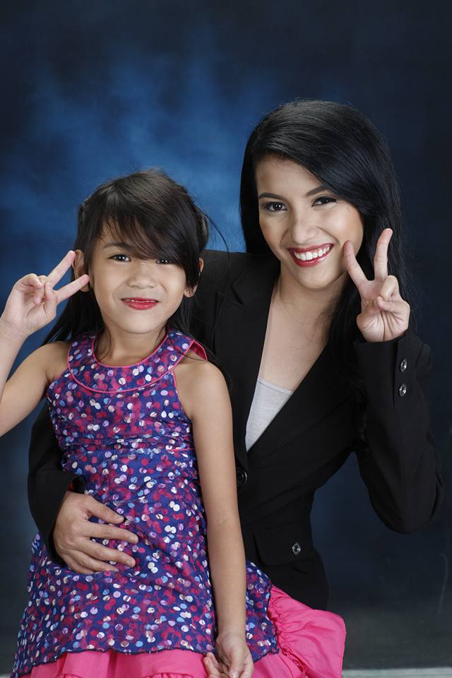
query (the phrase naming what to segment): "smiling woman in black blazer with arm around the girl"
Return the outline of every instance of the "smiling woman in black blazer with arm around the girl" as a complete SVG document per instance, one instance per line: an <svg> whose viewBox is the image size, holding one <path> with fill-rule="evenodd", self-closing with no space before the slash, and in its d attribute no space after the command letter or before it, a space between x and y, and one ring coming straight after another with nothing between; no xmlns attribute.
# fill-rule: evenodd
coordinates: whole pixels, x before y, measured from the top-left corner
<svg viewBox="0 0 452 678"><path fill-rule="evenodd" d="M429 431L429 347L413 330L396 175L379 131L352 107L292 102L246 145L246 254L207 252L191 329L230 379L246 557L312 607L328 585L313 546L316 489L355 453L372 506L401 533L443 495ZM60 468L47 414L32 432L30 506L55 558L97 571L124 554L90 516L121 516ZM74 481L71 489L69 485Z"/></svg>

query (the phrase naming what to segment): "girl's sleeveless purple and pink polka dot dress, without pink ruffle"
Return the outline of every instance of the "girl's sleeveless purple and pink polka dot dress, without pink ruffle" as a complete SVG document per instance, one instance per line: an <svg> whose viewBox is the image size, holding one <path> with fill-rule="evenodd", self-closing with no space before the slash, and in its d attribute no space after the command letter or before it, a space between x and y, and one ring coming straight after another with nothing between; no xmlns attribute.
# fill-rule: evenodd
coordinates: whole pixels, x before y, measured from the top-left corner
<svg viewBox="0 0 452 678"><path fill-rule="evenodd" d="M136 566L77 574L52 561L37 535L13 678L64 653L214 649L206 518L191 422L173 373L190 348L206 355L175 330L126 367L98 362L94 345L93 335L71 344L68 369L50 384L47 400L64 469L124 516L121 528L133 530L138 544L119 549ZM246 570L246 636L258 660L278 652L267 614L271 585L254 564Z"/></svg>

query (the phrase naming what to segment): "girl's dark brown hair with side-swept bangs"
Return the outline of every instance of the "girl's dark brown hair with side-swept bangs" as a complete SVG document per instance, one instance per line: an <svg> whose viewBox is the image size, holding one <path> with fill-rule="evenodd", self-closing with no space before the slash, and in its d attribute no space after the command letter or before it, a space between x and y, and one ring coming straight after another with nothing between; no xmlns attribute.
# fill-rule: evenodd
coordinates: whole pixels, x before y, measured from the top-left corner
<svg viewBox="0 0 452 678"><path fill-rule="evenodd" d="M127 245L131 256L166 258L184 269L188 287L198 283L199 256L208 240L209 219L186 189L160 169L112 179L81 204L73 249L83 251L88 273L95 242L105 229ZM167 326L190 334L191 302L192 298L184 297ZM44 343L73 340L83 332L100 333L104 329L93 290L77 292L69 298Z"/></svg>

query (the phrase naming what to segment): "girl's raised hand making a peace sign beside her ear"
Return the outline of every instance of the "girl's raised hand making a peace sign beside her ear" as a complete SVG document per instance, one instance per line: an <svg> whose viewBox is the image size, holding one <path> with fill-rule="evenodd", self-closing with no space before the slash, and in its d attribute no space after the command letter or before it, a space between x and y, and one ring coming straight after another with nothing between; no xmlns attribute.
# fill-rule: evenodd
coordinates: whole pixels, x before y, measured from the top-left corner
<svg viewBox="0 0 452 678"><path fill-rule="evenodd" d="M89 282L88 275L81 275L69 285L54 290L54 285L71 268L75 258L76 253L71 250L49 275L28 273L17 281L1 316L8 330L25 340L55 318L60 302L71 297Z"/></svg>

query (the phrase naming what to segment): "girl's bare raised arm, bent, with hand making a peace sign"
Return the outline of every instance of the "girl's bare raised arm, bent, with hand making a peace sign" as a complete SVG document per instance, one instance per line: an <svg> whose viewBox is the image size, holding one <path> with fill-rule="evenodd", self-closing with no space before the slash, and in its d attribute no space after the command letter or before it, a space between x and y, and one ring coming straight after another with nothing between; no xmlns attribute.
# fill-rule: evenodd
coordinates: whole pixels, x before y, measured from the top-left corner
<svg viewBox="0 0 452 678"><path fill-rule="evenodd" d="M25 339L55 318L59 302L88 283L88 275L82 275L60 290L53 289L71 267L74 256L73 251L68 252L47 276L29 273L20 278L6 301L0 317L0 435L30 414L52 381L55 365L64 349L61 342L37 349L6 383Z"/></svg>

